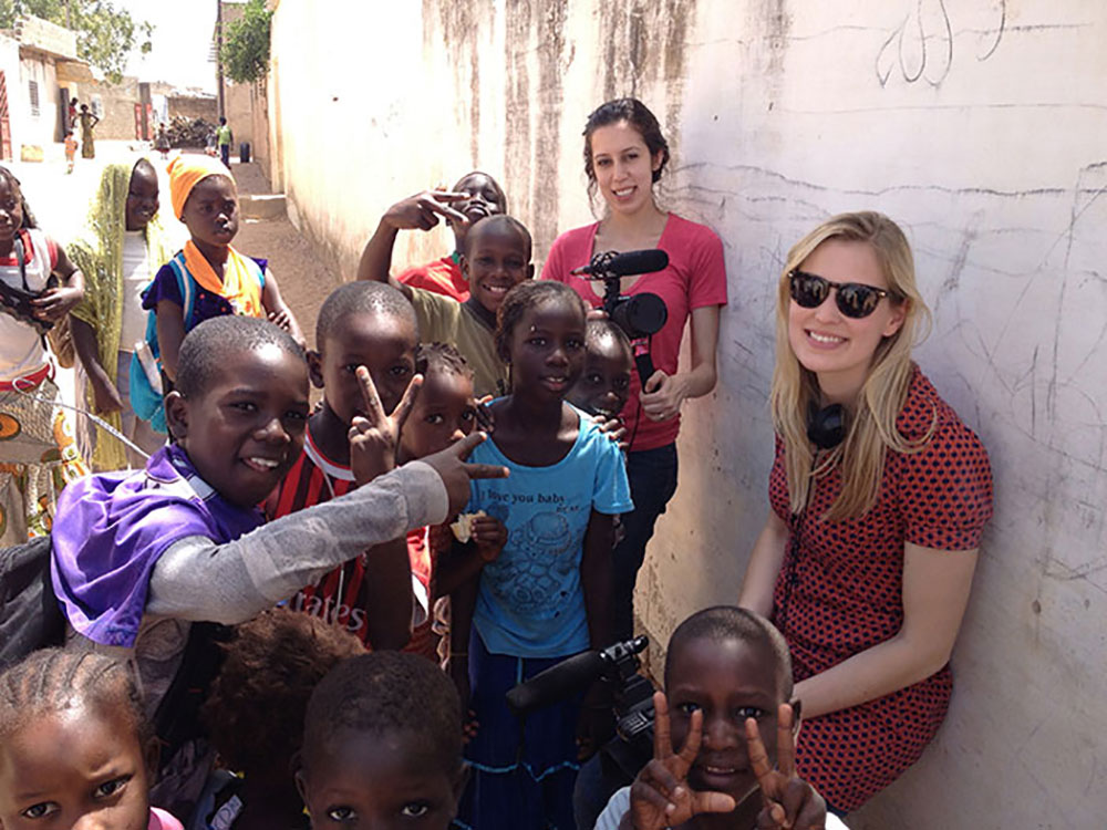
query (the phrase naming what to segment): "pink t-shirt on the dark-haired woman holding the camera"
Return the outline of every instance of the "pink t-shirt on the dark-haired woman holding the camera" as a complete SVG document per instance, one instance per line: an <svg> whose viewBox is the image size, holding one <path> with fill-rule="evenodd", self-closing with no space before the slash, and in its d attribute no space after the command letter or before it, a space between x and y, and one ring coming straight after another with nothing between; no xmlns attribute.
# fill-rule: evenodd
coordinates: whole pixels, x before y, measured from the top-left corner
<svg viewBox="0 0 1107 830"><path fill-rule="evenodd" d="M571 277L569 271L588 264L599 227L599 222L596 222L559 236L554 240L542 269L542 279L557 280L572 287L592 308L599 308L603 302L603 283ZM658 247L669 255L669 267L663 271L639 277L627 293L633 295L649 292L665 301L669 320L653 335L650 354L654 369L671 375L676 372L681 338L692 309L726 304L726 264L723 260L723 242L715 231L705 225L682 219L676 214L669 215ZM640 390L635 371L631 373L631 394L622 413L627 422L627 434L632 436L631 452L656 449L672 444L680 432L680 417L656 422L641 415Z"/></svg>

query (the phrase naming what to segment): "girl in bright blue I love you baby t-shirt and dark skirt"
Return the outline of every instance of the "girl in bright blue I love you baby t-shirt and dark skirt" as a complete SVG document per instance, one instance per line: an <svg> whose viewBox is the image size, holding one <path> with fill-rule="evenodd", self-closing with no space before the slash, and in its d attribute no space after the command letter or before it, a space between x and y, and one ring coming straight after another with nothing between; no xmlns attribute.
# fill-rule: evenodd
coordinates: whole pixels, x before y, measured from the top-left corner
<svg viewBox="0 0 1107 830"><path fill-rule="evenodd" d="M550 281L515 287L499 309L496 349L510 366L511 394L492 403L495 435L474 455L510 476L474 483L468 507L508 531L479 577L467 655L478 729L466 748L473 778L458 818L480 830L572 827L575 736L592 737L579 699L525 722L504 699L520 681L611 636L612 527L633 505L619 447L565 402L584 367L586 313L571 289ZM455 614L455 625L459 618L468 614ZM610 708L583 709L593 713L610 719Z"/></svg>

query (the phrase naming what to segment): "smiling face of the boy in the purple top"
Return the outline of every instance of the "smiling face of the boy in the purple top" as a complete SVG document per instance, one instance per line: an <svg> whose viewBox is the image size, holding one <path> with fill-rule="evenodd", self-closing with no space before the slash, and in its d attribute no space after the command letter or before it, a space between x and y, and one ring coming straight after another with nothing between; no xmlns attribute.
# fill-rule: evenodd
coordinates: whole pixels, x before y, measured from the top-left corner
<svg viewBox="0 0 1107 830"><path fill-rule="evenodd" d="M169 394L166 418L200 478L231 504L252 507L303 446L308 367L276 344L230 349L203 394Z"/></svg>

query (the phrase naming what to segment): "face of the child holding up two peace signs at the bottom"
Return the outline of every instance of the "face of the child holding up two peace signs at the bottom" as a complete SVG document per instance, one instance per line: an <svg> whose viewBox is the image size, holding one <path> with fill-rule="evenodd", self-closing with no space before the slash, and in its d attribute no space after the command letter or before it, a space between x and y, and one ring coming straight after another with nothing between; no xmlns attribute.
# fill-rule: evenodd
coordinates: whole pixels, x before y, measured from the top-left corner
<svg viewBox="0 0 1107 830"><path fill-rule="evenodd" d="M694 637L670 657L665 685L674 747L684 746L692 713L703 712L703 744L689 784L695 790L725 792L741 803L757 787L746 747L747 717L757 722L769 758L776 758L783 699L772 650L734 637Z"/></svg>

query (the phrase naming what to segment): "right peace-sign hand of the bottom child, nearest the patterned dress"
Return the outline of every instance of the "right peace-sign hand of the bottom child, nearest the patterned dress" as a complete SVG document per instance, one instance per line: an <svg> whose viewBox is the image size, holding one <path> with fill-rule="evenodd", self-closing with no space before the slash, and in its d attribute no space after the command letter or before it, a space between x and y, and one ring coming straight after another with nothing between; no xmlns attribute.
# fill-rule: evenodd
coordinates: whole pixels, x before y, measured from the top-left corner
<svg viewBox="0 0 1107 830"><path fill-rule="evenodd" d="M776 719L776 769L757 732L757 722L746 718L749 765L761 786L764 808L757 830L824 830L827 806L811 785L796 775L796 738L792 706L780 704Z"/></svg>

